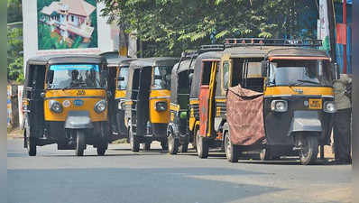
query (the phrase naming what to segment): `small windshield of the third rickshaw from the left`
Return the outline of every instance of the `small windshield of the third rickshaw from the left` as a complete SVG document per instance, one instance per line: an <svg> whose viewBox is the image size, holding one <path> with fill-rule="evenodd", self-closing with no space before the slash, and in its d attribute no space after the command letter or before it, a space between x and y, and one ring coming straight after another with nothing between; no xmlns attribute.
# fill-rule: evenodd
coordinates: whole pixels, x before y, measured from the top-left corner
<svg viewBox="0 0 359 203"><path fill-rule="evenodd" d="M170 90L171 67L158 66L153 68L152 89Z"/></svg>

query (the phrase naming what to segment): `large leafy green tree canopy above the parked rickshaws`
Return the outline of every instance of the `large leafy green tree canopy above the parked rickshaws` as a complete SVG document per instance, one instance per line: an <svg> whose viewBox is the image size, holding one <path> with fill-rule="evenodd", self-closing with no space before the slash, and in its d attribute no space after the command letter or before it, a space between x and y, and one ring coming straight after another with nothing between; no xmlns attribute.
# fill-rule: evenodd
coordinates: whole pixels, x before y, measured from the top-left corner
<svg viewBox="0 0 359 203"><path fill-rule="evenodd" d="M306 0L98 0L101 12L144 42L143 56L179 56L228 37L295 35ZM313 2L312 4L315 4ZM315 6L315 5L314 5Z"/></svg>

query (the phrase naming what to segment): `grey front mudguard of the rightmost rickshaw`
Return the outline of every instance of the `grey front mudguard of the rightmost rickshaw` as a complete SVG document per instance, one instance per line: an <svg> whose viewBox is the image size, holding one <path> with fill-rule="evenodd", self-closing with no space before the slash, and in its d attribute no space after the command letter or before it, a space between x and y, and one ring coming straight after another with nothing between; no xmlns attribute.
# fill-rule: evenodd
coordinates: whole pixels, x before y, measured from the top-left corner
<svg viewBox="0 0 359 203"><path fill-rule="evenodd" d="M288 135L296 132L322 132L323 127L317 111L294 111ZM313 134L319 135L319 134Z"/></svg>

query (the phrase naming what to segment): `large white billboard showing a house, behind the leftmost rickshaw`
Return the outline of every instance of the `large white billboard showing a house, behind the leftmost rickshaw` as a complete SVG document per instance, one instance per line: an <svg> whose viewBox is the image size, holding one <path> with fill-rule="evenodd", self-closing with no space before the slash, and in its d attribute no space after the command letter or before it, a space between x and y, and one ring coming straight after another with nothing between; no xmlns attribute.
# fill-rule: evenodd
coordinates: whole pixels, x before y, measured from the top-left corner
<svg viewBox="0 0 359 203"><path fill-rule="evenodd" d="M23 62L38 55L118 51L119 30L97 0L23 0Z"/></svg>

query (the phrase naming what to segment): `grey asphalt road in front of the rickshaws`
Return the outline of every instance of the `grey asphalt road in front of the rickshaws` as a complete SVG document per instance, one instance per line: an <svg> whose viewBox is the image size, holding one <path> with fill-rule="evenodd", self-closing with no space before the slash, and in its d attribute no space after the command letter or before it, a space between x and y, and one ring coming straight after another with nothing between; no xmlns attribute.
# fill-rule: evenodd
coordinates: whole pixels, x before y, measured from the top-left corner
<svg viewBox="0 0 359 203"><path fill-rule="evenodd" d="M8 140L8 202L351 202L348 165L230 163L221 152L200 160L193 150L173 156L156 143L151 152L133 153L128 144L109 148L104 157L91 147L84 157L76 157L48 145L29 157L23 140Z"/></svg>

